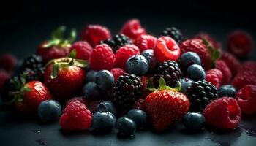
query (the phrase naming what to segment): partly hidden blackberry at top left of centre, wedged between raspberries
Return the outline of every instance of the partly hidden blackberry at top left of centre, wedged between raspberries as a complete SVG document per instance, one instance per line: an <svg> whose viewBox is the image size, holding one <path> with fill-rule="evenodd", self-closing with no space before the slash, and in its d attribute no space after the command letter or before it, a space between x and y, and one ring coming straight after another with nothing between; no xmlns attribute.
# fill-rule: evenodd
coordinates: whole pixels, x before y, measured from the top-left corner
<svg viewBox="0 0 256 146"><path fill-rule="evenodd" d="M124 34L116 34L112 39L106 39L101 42L101 44L103 43L108 44L112 48L113 52L116 53L116 50L124 45L132 44L132 41Z"/></svg>

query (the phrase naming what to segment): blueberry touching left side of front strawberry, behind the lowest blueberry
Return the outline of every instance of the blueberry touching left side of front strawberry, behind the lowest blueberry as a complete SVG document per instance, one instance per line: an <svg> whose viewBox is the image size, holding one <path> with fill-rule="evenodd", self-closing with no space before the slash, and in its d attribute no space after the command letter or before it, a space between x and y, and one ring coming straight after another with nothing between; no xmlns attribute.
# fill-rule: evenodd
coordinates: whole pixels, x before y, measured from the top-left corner
<svg viewBox="0 0 256 146"><path fill-rule="evenodd" d="M129 110L129 112L127 113L127 117L132 119L135 122L136 128L138 129L146 128L147 115L146 115L146 112L144 112L143 110L139 110L139 109Z"/></svg>

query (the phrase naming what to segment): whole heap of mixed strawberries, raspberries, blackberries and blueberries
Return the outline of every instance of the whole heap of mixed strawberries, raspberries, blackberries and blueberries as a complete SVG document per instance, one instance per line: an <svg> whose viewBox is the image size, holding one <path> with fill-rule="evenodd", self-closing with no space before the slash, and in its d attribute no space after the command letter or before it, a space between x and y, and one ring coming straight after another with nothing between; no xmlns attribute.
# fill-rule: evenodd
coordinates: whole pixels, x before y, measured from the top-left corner
<svg viewBox="0 0 256 146"><path fill-rule="evenodd" d="M256 62L238 60L253 47L244 31L230 34L226 52L206 33L184 39L170 27L154 37L137 19L115 36L86 26L78 42L75 30L64 37L65 30L57 28L22 62L1 55L1 101L10 109L59 120L64 130L116 127L121 136L179 122L189 131L234 129L241 115L256 113Z"/></svg>

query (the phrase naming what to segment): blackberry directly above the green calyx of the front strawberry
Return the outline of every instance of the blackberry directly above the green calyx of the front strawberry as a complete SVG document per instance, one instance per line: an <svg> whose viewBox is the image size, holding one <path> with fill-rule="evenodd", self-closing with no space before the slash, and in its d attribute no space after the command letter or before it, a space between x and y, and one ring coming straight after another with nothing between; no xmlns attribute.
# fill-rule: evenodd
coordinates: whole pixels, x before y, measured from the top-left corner
<svg viewBox="0 0 256 146"><path fill-rule="evenodd" d="M174 88L181 80L182 72L176 61L164 61L157 66L157 74L153 76L155 88L158 87L160 77L165 79L166 85Z"/></svg>

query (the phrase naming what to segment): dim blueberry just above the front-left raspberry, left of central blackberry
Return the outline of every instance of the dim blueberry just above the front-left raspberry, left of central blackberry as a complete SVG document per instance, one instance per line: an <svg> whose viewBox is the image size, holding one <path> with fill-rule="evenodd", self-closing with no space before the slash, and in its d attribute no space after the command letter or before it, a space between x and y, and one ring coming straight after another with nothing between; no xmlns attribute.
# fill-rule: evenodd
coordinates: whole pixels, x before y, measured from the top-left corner
<svg viewBox="0 0 256 146"><path fill-rule="evenodd" d="M101 90L95 82L88 82L83 86L83 95L88 99L97 99L101 96Z"/></svg>

